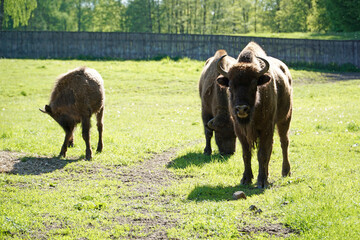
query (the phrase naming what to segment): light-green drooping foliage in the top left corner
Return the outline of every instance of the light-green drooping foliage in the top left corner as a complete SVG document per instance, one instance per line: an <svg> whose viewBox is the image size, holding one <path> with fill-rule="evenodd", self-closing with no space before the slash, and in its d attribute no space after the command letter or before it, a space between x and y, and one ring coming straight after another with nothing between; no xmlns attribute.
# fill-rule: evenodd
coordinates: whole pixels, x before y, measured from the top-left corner
<svg viewBox="0 0 360 240"><path fill-rule="evenodd" d="M36 0L1 0L0 30L3 26L12 28L27 26L31 13L37 7Z"/></svg>

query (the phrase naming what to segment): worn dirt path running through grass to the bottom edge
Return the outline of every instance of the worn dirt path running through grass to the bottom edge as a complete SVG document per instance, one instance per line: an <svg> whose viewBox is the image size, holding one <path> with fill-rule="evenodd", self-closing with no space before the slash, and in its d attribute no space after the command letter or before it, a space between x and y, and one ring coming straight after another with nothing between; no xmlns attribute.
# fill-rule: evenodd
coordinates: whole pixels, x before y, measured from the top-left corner
<svg viewBox="0 0 360 240"><path fill-rule="evenodd" d="M145 208L139 209L136 202L132 207L136 208L136 211L149 216L149 218L125 218L117 220L143 227L143 232L146 234L146 237L143 239L168 239L166 230L177 224L177 220L173 217L146 207L156 204L161 205L163 209L167 209L168 213L173 212L171 199L167 196L162 196L159 191L163 187L170 186L173 182L179 180L176 175L166 169L166 165L176 156L177 150L170 149L166 152L155 154L151 159L145 160L139 165L121 170L121 181L131 186L135 192L140 193L140 195L135 195L134 199L129 199L129 203L131 204L132 200L140 200ZM135 236L129 237L134 238ZM141 238L137 237L137 239Z"/></svg>

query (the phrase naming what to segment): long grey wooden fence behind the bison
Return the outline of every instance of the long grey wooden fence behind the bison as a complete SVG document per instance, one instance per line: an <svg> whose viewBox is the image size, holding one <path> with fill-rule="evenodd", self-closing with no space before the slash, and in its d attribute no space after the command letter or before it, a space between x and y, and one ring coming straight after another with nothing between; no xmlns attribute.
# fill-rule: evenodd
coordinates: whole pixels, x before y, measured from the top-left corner
<svg viewBox="0 0 360 240"><path fill-rule="evenodd" d="M159 56L206 60L225 49L237 57L249 41L287 63L352 64L360 68L360 41L176 35L120 32L0 32L2 58L150 59Z"/></svg>

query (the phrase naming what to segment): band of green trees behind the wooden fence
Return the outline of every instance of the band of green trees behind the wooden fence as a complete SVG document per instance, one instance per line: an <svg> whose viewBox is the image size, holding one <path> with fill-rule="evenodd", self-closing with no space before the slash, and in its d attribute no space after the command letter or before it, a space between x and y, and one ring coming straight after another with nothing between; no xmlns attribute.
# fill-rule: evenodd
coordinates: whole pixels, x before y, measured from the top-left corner
<svg viewBox="0 0 360 240"><path fill-rule="evenodd" d="M0 0L0 30L360 31L360 0Z"/></svg>

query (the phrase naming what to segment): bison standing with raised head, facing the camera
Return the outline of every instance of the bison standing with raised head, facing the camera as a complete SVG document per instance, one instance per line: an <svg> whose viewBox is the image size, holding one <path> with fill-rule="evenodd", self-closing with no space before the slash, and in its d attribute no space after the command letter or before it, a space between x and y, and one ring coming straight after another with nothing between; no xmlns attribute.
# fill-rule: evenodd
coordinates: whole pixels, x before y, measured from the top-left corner
<svg viewBox="0 0 360 240"><path fill-rule="evenodd" d="M218 84L229 89L230 112L242 145L245 165L241 183L251 183L251 150L257 144L257 184L263 188L268 184L275 124L283 155L282 175L290 175L288 134L292 113L291 75L283 62L267 56L254 42L241 51L237 63L229 70L225 70L221 64L227 58L223 55L217 62L218 72L224 76L218 78Z"/></svg>

